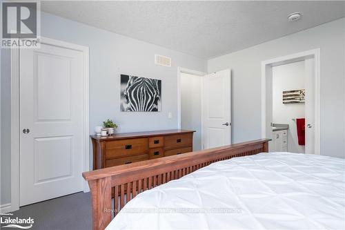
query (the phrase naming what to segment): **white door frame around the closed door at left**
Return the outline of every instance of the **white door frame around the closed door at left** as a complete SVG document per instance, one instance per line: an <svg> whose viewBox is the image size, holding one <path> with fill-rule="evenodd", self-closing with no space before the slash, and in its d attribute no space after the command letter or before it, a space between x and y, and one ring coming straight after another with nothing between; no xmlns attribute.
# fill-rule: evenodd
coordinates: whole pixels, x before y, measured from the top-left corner
<svg viewBox="0 0 345 230"><path fill-rule="evenodd" d="M41 44L70 48L83 52L83 171L90 171L89 141L89 48L66 41L40 37ZM20 155L20 88L19 88L19 49L11 49L11 203L6 210L19 209L19 155ZM88 184L83 182L83 191L90 191Z"/></svg>

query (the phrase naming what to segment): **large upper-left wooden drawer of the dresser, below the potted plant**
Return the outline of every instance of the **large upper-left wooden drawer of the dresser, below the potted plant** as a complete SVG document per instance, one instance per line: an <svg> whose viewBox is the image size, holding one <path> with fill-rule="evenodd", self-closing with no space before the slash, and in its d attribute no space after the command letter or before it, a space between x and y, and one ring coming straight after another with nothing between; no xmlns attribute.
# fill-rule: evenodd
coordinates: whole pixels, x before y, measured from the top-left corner
<svg viewBox="0 0 345 230"><path fill-rule="evenodd" d="M148 153L148 138L106 142L106 160Z"/></svg>

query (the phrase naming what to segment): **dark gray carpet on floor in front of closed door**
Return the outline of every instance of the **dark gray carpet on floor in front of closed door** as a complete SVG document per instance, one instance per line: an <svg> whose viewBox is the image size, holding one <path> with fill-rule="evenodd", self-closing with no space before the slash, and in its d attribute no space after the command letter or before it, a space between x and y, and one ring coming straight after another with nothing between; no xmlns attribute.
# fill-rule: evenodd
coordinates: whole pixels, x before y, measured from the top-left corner
<svg viewBox="0 0 345 230"><path fill-rule="evenodd" d="M90 193L75 193L21 207L13 218L34 219L32 229L92 229Z"/></svg>

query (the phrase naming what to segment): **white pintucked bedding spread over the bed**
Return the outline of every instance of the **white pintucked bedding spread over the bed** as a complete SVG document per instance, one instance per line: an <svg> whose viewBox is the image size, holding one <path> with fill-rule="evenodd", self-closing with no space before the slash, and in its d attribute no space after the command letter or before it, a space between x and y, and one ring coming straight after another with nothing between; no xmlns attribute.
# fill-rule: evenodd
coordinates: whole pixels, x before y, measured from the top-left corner
<svg viewBox="0 0 345 230"><path fill-rule="evenodd" d="M145 191L107 229L345 229L344 196L344 159L260 153Z"/></svg>

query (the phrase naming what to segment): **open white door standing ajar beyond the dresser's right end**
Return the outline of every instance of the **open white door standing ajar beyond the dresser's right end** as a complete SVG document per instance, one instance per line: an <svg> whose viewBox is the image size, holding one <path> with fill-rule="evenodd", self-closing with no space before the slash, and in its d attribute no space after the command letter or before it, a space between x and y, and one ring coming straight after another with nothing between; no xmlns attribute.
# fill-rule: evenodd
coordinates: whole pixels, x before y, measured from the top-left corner
<svg viewBox="0 0 345 230"><path fill-rule="evenodd" d="M230 70L221 70L203 78L204 148L231 144Z"/></svg>

